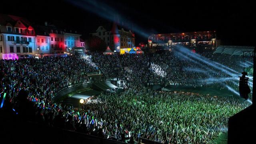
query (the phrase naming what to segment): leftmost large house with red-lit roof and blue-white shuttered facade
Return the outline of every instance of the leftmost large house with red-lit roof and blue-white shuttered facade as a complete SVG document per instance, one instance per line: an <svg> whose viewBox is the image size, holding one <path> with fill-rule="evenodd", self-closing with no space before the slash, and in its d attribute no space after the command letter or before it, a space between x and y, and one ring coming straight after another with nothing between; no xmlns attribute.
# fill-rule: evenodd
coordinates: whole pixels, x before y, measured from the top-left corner
<svg viewBox="0 0 256 144"><path fill-rule="evenodd" d="M18 59L36 54L35 32L21 17L0 14L0 59Z"/></svg>

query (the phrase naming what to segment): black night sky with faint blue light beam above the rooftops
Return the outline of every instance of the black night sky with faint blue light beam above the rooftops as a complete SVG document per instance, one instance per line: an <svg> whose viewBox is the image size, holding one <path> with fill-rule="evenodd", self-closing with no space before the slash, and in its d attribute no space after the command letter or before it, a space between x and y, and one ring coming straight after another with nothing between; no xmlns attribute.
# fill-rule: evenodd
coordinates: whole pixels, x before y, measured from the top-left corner
<svg viewBox="0 0 256 144"><path fill-rule="evenodd" d="M255 6L244 1L185 0L43 0L1 1L0 13L28 18L36 24L66 24L86 38L100 25L118 18L119 24L134 28L136 44L150 34L216 30L226 45L255 46Z"/></svg>

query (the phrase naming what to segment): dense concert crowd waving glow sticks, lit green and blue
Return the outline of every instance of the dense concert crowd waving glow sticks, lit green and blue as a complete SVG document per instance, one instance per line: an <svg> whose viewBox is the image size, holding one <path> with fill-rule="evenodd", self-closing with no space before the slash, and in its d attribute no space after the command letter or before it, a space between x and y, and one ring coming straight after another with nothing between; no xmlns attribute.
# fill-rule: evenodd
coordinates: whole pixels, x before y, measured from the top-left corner
<svg viewBox="0 0 256 144"><path fill-rule="evenodd" d="M241 61L189 52L0 60L0 112L123 142L146 138L162 143L207 143L245 105L229 98L144 91L143 87L223 88L236 84L233 78L241 72L237 66ZM121 94L102 94L82 109L53 102L58 90L87 82L86 74L97 71L105 78L126 80L128 88Z"/></svg>

